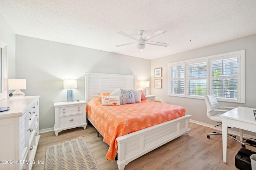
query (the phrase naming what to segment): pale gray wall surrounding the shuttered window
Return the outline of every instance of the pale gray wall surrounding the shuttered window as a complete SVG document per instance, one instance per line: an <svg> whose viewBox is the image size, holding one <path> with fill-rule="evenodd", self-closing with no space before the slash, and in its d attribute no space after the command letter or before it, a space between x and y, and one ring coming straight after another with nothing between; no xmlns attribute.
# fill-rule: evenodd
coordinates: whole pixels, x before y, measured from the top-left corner
<svg viewBox="0 0 256 170"><path fill-rule="evenodd" d="M245 104L224 103L220 105L225 106L246 106L256 108L256 34L239 38L236 40L218 43L207 47L202 47L151 61L151 82L154 82L154 68L162 67L162 89L154 89L151 86L151 93L156 95L156 100L162 103L170 103L183 106L186 113L192 115L191 119L194 121L216 125L215 122L208 119L206 116L206 104L202 99L188 99L182 97L168 96L168 63L183 61L187 59L194 59L199 57L206 57L221 53L238 51L245 49Z"/></svg>

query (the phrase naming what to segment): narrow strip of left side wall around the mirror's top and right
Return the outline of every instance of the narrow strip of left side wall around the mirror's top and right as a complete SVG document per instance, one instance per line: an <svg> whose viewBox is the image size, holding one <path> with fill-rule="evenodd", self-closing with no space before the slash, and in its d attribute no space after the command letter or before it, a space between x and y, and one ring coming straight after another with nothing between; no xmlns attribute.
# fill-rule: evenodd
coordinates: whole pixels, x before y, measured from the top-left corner
<svg viewBox="0 0 256 170"><path fill-rule="evenodd" d="M15 78L15 34L1 15L0 40L7 44L8 78Z"/></svg>

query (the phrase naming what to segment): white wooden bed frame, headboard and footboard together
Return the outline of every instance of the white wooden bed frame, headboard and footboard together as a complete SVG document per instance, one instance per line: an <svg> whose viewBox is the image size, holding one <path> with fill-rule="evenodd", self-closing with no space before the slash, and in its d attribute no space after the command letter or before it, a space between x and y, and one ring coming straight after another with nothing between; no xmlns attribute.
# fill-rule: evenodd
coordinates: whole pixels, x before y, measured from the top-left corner
<svg viewBox="0 0 256 170"><path fill-rule="evenodd" d="M111 92L118 87L122 89L135 89L136 87L136 76L134 75L84 73L84 76L85 100L87 102L94 97L97 97L99 92ZM185 133L188 135L188 132L190 131L190 116L191 115L185 115L116 138L118 141L118 169L124 170L124 167L132 160L135 160Z"/></svg>

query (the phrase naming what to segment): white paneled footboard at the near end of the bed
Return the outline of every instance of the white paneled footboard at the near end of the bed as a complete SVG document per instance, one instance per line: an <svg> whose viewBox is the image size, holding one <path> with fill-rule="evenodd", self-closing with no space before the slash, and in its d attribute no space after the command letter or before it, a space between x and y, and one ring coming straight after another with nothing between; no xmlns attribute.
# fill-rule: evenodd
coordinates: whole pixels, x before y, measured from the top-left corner
<svg viewBox="0 0 256 170"><path fill-rule="evenodd" d="M190 131L190 116L185 115L172 121L116 138L118 141L118 169L124 170L124 167L132 160L170 142L182 134L188 134Z"/></svg>

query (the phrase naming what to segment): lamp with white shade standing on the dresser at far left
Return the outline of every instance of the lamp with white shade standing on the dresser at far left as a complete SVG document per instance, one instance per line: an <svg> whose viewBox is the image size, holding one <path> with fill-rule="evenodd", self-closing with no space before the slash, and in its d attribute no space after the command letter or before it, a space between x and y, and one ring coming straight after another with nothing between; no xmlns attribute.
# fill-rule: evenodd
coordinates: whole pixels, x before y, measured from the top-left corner
<svg viewBox="0 0 256 170"><path fill-rule="evenodd" d="M8 89L15 90L12 93L13 97L25 96L25 93L20 91L20 89L27 89L26 79L8 79Z"/></svg>

